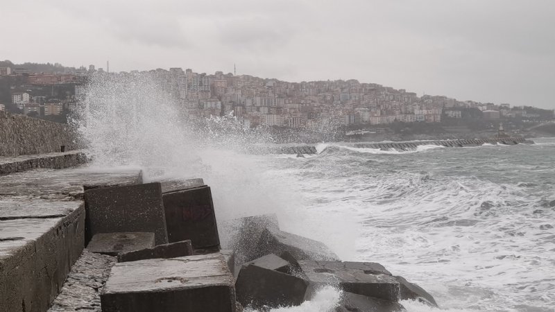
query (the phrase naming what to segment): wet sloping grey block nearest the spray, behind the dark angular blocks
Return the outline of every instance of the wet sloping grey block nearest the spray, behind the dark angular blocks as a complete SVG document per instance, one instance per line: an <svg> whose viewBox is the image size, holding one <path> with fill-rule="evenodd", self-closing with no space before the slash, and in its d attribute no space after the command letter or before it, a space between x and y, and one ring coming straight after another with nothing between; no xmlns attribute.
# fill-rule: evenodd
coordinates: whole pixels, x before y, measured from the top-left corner
<svg viewBox="0 0 555 312"><path fill-rule="evenodd" d="M339 257L324 243L275 229L265 229L262 232L258 242L258 250L262 254L281 254L287 251L297 260L339 260Z"/></svg>

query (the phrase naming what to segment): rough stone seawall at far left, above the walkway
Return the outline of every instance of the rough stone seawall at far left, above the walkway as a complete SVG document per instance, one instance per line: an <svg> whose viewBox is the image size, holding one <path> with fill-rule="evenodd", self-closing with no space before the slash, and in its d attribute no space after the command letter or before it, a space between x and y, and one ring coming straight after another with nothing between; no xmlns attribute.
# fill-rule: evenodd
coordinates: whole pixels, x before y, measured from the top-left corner
<svg viewBox="0 0 555 312"><path fill-rule="evenodd" d="M67 125L0 112L0 156L36 155L76 149Z"/></svg>

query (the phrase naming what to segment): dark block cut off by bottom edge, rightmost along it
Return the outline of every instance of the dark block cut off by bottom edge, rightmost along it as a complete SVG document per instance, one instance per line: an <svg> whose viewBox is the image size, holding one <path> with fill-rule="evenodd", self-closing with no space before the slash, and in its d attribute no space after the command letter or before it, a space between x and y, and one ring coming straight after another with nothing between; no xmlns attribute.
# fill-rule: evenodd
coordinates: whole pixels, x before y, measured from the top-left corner
<svg viewBox="0 0 555 312"><path fill-rule="evenodd" d="M404 307L398 302L391 302L375 297L357 295L356 293L343 292L339 306L335 312L401 312Z"/></svg>

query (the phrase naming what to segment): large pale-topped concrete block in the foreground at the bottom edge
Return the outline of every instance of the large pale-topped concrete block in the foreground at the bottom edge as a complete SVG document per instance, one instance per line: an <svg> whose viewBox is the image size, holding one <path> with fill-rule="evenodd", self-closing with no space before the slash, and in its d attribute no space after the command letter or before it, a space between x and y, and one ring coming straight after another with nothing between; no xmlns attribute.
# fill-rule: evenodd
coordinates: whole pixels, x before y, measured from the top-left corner
<svg viewBox="0 0 555 312"><path fill-rule="evenodd" d="M117 263L103 312L236 312L234 279L221 254Z"/></svg>

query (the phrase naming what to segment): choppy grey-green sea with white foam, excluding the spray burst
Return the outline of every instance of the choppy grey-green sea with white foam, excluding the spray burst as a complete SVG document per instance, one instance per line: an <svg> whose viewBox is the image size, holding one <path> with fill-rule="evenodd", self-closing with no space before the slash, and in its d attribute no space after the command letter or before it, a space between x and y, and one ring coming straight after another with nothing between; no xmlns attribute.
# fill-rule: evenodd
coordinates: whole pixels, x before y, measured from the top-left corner
<svg viewBox="0 0 555 312"><path fill-rule="evenodd" d="M447 311L554 311L555 139L535 141L404 153L327 144L306 159L263 158L266 178L287 182L329 229L316 234L307 217L297 232L341 256L383 263Z"/></svg>

